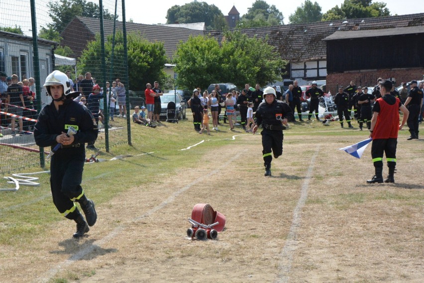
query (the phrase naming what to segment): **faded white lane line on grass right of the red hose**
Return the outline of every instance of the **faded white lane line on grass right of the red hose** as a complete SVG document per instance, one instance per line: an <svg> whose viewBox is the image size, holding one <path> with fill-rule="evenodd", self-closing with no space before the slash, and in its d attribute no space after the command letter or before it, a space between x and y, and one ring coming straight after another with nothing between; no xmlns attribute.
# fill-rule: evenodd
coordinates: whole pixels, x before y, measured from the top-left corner
<svg viewBox="0 0 424 283"><path fill-rule="evenodd" d="M287 235L286 244L284 245L283 250L280 255L280 264L279 264L279 274L276 282L278 283L287 283L289 282L289 273L292 269L293 262L293 254L297 249L297 234L298 230L301 226L302 220L302 208L305 206L306 199L308 197L308 189L309 189L309 181L312 178L312 172L315 166L315 159L318 156L320 145L317 146L315 150L314 156L311 159L311 163L309 164L308 172L305 176L305 181L302 185L301 196L298 200L298 203L293 211L293 220L292 225L290 226L289 234Z"/></svg>

